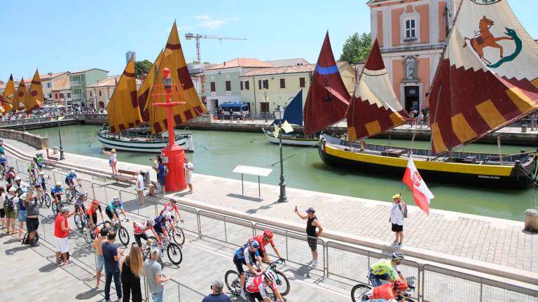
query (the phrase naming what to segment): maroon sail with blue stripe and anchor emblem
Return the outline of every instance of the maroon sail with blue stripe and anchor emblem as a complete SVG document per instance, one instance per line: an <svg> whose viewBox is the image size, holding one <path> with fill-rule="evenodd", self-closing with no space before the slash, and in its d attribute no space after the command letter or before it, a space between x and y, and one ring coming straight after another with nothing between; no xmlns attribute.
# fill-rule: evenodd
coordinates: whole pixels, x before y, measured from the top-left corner
<svg viewBox="0 0 538 302"><path fill-rule="evenodd" d="M327 31L303 111L305 134L315 134L343 120L349 104L350 94L338 71Z"/></svg>

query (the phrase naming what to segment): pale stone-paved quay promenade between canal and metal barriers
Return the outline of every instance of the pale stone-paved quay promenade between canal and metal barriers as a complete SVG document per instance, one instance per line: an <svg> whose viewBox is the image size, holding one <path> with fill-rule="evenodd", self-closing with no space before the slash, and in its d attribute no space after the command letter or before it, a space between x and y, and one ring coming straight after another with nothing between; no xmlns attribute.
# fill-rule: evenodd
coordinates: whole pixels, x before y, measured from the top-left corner
<svg viewBox="0 0 538 302"><path fill-rule="evenodd" d="M23 152L35 152L19 142L6 140L6 143ZM63 162L109 172L106 159L67 153ZM118 163L118 167L151 170L146 166L123 162ZM155 177L154 173L152 177ZM245 182L246 196L241 195L238 180L195 174L193 184L194 194L173 195L179 196L187 205L228 211L250 217L251 220L273 222L301 231L304 222L293 213L294 207L304 210L314 206L326 236L380 250L392 250L390 243L394 235L388 223L390 203L292 188L287 189L289 203L277 203L277 186L261 185L262 199L258 199L258 185L254 182ZM393 193L387 191L387 201ZM524 233L523 222L443 210L432 210L430 215L425 215L418 208L410 206L405 230L403 252L436 255L436 259L457 259L462 263L496 268L497 271L538 280L538 258L535 257L538 253L538 236ZM483 264L478 261L483 261Z"/></svg>

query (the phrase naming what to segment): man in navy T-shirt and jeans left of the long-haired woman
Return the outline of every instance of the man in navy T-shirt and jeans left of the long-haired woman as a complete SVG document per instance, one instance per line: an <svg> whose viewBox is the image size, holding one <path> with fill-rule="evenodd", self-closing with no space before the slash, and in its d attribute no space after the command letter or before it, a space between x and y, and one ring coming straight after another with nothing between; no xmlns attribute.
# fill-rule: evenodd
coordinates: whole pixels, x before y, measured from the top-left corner
<svg viewBox="0 0 538 302"><path fill-rule="evenodd" d="M110 286L112 278L114 278L114 286L116 287L116 295L118 300L121 300L121 280L119 260L123 250L114 244L116 240L116 232L110 231L106 236L106 241L103 241L103 259L104 259L104 301L110 301Z"/></svg>

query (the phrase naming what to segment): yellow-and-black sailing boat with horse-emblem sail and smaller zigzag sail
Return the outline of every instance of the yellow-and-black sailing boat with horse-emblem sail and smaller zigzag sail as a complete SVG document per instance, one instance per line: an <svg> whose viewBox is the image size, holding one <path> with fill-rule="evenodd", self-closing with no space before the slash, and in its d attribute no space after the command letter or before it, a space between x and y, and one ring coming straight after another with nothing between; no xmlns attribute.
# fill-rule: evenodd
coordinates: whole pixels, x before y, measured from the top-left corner
<svg viewBox="0 0 538 302"><path fill-rule="evenodd" d="M488 47L500 49L485 52ZM503 47L509 54L504 57ZM396 127L406 118L392 97L394 92L387 95L392 88L386 86L388 79L382 80L387 75L384 68L380 69L377 48L374 44L347 110L350 140ZM323 136L319 155L326 164L401 176L413 152L415 165L425 178L510 189L526 187L536 178L535 152L504 155L454 149L538 108L537 52L538 46L506 1L463 0L430 90L431 150Z"/></svg>

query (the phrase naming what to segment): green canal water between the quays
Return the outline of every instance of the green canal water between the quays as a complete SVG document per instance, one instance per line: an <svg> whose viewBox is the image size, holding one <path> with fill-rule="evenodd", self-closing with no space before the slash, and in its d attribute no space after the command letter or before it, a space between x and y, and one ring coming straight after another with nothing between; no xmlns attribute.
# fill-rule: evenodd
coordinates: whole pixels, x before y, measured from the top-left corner
<svg viewBox="0 0 538 302"><path fill-rule="evenodd" d="M95 138L97 129L97 126L62 127L64 150L106 158L101 154L101 145ZM49 136L50 145L59 145L56 128L37 129L30 132ZM277 145L268 143L263 134L203 130L191 132L194 134L195 152L187 154L187 157L193 161L196 173L240 179L240 175L232 173L237 164L273 168L273 173L268 178L262 178L261 181L270 185L278 185L280 168L279 164L275 163L279 161L279 149ZM372 139L370 141L372 143L387 143L385 139ZM92 145L88 147L90 143ZM406 146L409 143L409 141L392 140L392 145ZM415 142L416 148L427 148L427 146L427 141ZM482 144L469 145L463 150L498 152L496 145ZM533 148L503 146L502 151L516 153L519 150L533 150ZM292 154L295 155L284 161L288 187L380 201L392 201L390 197L395 192L399 192L401 187L399 179L364 175L343 168L326 166L319 159L316 148L284 146L284 157ZM149 164L149 157L152 155L118 152L120 164L121 161ZM271 166L272 164L275 166ZM247 176L246 179L256 181L254 177ZM538 190L533 188L507 191L495 188L458 187L439 182L428 182L428 185L436 196L432 200L432 208L520 221L524 219L525 209L538 208ZM403 197L409 203L413 203L407 188L403 189Z"/></svg>

